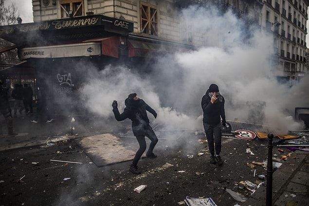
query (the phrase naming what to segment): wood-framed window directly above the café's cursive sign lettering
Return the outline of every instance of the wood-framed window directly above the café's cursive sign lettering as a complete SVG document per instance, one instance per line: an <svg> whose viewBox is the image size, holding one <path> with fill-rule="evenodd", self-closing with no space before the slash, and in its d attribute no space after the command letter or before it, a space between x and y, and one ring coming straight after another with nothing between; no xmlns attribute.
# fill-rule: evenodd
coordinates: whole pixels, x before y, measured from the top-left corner
<svg viewBox="0 0 309 206"><path fill-rule="evenodd" d="M60 0L61 18L84 16L83 0Z"/></svg>

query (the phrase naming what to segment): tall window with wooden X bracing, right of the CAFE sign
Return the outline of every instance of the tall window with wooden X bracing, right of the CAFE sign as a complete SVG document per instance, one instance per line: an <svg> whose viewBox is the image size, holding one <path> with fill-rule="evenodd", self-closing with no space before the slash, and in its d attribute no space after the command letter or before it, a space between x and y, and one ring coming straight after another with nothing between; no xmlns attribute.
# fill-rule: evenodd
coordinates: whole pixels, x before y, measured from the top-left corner
<svg viewBox="0 0 309 206"><path fill-rule="evenodd" d="M158 10L145 2L140 3L141 32L158 36Z"/></svg>

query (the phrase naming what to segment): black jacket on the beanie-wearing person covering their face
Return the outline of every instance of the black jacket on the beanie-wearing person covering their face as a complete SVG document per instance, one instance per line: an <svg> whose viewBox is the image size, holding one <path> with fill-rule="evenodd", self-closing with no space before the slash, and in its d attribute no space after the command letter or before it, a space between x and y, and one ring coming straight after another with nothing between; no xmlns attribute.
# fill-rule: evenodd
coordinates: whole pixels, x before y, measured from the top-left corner
<svg viewBox="0 0 309 206"><path fill-rule="evenodd" d="M203 110L203 122L210 125L217 125L222 121L225 122L224 97L222 101L217 101L214 104L210 102L209 90L203 95L201 100L201 107Z"/></svg>

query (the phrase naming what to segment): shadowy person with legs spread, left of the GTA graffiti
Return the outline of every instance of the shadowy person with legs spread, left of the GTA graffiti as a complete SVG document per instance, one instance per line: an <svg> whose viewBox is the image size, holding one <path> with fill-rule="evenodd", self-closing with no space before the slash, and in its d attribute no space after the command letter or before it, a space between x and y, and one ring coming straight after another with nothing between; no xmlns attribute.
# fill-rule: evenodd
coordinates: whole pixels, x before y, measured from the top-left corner
<svg viewBox="0 0 309 206"><path fill-rule="evenodd" d="M47 108L46 94L45 94L45 91L42 90L42 88L37 88L36 114L35 114L34 119L31 120L31 122L37 123L39 115L46 115L47 117L46 123L53 121L53 119L51 119L50 113Z"/></svg>

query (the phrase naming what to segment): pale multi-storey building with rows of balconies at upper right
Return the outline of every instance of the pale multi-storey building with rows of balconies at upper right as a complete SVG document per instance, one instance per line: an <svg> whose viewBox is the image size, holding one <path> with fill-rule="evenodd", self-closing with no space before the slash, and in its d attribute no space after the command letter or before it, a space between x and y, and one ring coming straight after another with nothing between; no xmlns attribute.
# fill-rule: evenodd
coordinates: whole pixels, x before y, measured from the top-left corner
<svg viewBox="0 0 309 206"><path fill-rule="evenodd" d="M261 27L273 33L273 65L280 80L291 85L307 72L308 0L264 0Z"/></svg>

